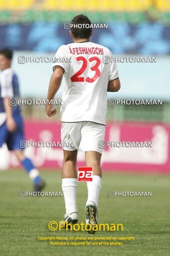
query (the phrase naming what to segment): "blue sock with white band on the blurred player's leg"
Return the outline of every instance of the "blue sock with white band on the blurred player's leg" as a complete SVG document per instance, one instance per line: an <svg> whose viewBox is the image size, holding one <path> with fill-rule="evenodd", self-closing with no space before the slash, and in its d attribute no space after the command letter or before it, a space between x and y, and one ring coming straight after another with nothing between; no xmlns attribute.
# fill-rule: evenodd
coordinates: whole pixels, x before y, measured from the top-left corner
<svg viewBox="0 0 170 256"><path fill-rule="evenodd" d="M30 161L30 159L25 158L22 161L22 165L23 165L24 169L26 170L27 174L29 175L29 177L33 180L33 182L35 184L38 183L41 180L38 171L33 166L33 164Z"/></svg>

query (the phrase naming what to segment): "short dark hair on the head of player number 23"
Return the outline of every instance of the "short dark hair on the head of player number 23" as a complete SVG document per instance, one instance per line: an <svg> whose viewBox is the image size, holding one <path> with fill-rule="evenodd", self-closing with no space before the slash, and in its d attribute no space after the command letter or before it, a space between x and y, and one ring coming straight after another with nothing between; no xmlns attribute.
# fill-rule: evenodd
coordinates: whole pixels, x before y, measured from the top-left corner
<svg viewBox="0 0 170 256"><path fill-rule="evenodd" d="M89 27L91 25L91 22L90 20L84 16L83 14L79 14L77 16L75 16L72 21L71 21L71 24L88 24ZM77 38L89 38L89 34L91 32L91 28L84 28L81 27L81 28L71 28L71 32L73 34L73 37L75 39Z"/></svg>

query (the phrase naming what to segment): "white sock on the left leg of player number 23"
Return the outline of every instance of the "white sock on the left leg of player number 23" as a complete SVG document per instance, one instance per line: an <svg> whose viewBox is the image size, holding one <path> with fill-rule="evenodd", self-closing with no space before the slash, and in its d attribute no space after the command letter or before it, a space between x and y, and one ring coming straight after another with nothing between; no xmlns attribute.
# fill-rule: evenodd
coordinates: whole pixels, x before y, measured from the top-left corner
<svg viewBox="0 0 170 256"><path fill-rule="evenodd" d="M65 200L66 213L77 212L76 187L77 187L77 179L74 179L74 178L62 179L62 191L64 195L64 200Z"/></svg>

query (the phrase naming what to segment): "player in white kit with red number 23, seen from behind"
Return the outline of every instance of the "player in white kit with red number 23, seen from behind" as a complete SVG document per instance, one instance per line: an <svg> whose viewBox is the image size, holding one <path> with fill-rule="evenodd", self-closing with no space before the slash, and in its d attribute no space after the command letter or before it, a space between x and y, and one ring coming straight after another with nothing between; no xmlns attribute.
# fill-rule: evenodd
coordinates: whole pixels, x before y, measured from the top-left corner
<svg viewBox="0 0 170 256"><path fill-rule="evenodd" d="M99 141L104 141L107 91L118 91L120 82L116 64L111 59L112 53L106 47L89 41L92 35L91 28L88 28L91 25L89 19L78 15L71 24L73 43L60 46L55 57L61 57L61 60L71 57L72 62L53 64L47 99L54 98L64 77L63 105L60 108L61 142L66 142L65 145L73 143L73 147L63 147L62 190L66 208L63 221L76 223L78 220L76 158L77 152L82 150L85 152L86 166L92 167L93 172L92 181L87 182L85 206L86 224L93 225L97 223L101 189L102 149L99 148ZM78 24L81 24L81 28ZM45 111L48 116L56 113L56 109L52 110L52 104L46 105Z"/></svg>

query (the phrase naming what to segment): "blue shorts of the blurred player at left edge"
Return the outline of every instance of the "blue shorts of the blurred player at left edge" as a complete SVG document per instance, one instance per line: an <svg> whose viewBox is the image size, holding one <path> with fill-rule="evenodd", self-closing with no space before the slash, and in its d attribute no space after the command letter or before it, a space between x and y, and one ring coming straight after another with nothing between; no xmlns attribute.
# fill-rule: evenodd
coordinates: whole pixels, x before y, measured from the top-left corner
<svg viewBox="0 0 170 256"><path fill-rule="evenodd" d="M23 119L20 114L13 115L13 118L17 125L14 133L10 133L7 130L6 122L0 126L0 147L2 147L3 143L6 143L8 150L22 150L20 141L24 141Z"/></svg>

